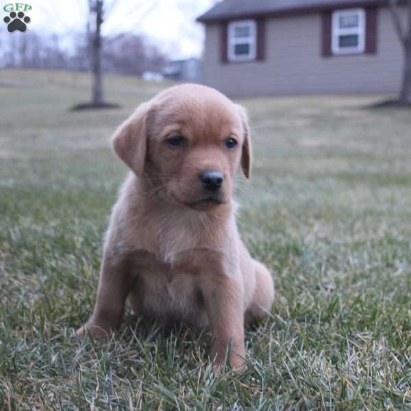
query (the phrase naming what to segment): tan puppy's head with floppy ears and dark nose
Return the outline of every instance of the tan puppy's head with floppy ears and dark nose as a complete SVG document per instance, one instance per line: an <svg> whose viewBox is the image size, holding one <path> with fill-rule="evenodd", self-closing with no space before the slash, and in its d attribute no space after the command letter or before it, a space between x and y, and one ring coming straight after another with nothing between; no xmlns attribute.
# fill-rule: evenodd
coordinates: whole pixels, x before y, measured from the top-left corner
<svg viewBox="0 0 411 411"><path fill-rule="evenodd" d="M143 103L112 142L164 201L197 210L229 202L238 164L251 173L245 109L205 86L175 86Z"/></svg>

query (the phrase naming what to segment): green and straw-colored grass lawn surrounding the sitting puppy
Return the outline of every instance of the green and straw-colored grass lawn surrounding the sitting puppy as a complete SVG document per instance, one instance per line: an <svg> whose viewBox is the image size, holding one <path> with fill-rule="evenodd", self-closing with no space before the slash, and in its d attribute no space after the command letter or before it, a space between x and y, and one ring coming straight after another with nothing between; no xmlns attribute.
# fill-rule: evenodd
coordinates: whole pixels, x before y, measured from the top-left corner
<svg viewBox="0 0 411 411"><path fill-rule="evenodd" d="M114 127L164 85L107 77L120 110L69 112L85 75L0 71L0 410L410 410L411 111L379 97L264 98L239 225L269 266L247 371L212 374L210 334L126 316L79 341L127 169Z"/></svg>

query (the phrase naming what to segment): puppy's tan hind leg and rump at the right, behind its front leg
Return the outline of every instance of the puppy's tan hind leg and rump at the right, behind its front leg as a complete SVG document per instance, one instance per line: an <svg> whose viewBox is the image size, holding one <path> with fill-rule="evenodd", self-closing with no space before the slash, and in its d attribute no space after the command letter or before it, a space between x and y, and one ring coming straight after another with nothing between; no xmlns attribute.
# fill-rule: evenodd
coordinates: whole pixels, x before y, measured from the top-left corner
<svg viewBox="0 0 411 411"><path fill-rule="evenodd" d="M274 301L274 282L271 273L266 266L256 260L253 260L253 269L256 282L251 305L245 313L247 323L259 321L268 316Z"/></svg>

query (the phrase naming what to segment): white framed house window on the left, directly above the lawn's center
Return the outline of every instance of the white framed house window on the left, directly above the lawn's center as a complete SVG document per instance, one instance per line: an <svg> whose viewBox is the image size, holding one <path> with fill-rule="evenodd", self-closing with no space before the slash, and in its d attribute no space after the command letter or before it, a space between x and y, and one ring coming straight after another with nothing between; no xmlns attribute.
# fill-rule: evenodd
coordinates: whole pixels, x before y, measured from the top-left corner
<svg viewBox="0 0 411 411"><path fill-rule="evenodd" d="M228 60L245 62L256 59L256 21L241 20L228 23Z"/></svg>

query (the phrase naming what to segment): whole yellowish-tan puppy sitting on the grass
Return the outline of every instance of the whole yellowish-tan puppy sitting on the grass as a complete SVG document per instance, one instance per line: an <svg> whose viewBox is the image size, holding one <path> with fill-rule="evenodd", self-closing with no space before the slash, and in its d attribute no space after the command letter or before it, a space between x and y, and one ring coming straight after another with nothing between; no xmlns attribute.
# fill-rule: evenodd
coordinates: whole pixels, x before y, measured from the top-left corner
<svg viewBox="0 0 411 411"><path fill-rule="evenodd" d="M119 327L125 303L138 316L211 327L219 369L245 362L244 324L269 313L271 274L240 240L234 173L251 173L245 110L220 92L185 84L142 103L112 137L129 174L105 237L97 302L86 330Z"/></svg>

